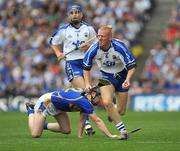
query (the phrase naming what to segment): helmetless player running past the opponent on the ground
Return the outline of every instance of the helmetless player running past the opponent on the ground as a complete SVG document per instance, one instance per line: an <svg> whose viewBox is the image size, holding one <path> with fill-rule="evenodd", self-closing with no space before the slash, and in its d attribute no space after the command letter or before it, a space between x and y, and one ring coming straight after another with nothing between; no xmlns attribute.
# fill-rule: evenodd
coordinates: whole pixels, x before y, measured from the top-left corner
<svg viewBox="0 0 180 151"><path fill-rule="evenodd" d="M112 38L112 29L104 26L98 30L98 42L89 48L84 57L84 79L87 90L91 88L90 69L93 60L97 62L102 78L111 83L101 88L102 102L120 134L126 137L127 131L120 121L119 114L124 114L126 110L130 80L136 68L135 58L123 42ZM112 104L114 94L117 109Z"/></svg>

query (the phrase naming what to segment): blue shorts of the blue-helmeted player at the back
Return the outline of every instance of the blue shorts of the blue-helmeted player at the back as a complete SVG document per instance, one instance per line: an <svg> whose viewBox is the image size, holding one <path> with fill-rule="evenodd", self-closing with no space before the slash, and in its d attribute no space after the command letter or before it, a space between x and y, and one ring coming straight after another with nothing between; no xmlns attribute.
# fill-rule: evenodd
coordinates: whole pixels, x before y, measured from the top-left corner
<svg viewBox="0 0 180 151"><path fill-rule="evenodd" d="M83 77L83 60L66 61L65 70L69 82L71 82L75 77Z"/></svg>

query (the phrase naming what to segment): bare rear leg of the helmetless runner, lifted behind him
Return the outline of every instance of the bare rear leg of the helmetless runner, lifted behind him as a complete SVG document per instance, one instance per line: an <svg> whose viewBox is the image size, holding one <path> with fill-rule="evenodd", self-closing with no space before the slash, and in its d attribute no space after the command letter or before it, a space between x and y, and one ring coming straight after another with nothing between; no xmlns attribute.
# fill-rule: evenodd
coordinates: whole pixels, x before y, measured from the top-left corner
<svg viewBox="0 0 180 151"><path fill-rule="evenodd" d="M117 110L120 115L124 115L126 113L127 102L128 92L116 92Z"/></svg>

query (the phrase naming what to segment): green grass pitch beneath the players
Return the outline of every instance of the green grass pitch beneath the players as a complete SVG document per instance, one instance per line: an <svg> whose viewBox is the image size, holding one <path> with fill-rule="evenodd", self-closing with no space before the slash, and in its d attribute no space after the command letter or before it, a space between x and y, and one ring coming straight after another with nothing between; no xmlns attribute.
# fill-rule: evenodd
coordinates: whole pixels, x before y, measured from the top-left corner
<svg viewBox="0 0 180 151"><path fill-rule="evenodd" d="M104 110L97 114L111 132L117 133L107 121ZM39 139L30 136L27 116L19 112L0 112L0 151L179 151L180 112L127 112L123 121L128 130L141 127L127 141L105 137L93 124L96 134L77 138L79 113L71 113L72 133L63 135L44 131ZM48 121L54 121L48 117Z"/></svg>

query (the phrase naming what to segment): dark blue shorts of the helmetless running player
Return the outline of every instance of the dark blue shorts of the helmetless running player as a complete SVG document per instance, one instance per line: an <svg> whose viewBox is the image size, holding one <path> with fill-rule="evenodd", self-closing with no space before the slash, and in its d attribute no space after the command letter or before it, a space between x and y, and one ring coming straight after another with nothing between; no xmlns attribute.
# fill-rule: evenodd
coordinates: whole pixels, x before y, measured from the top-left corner
<svg viewBox="0 0 180 151"><path fill-rule="evenodd" d="M124 69L123 71L116 73L116 74L107 73L104 71L101 71L101 73L102 73L102 78L110 81L116 91L127 92L129 90L129 89L122 88L122 84L125 81L126 76L127 76L126 69Z"/></svg>

